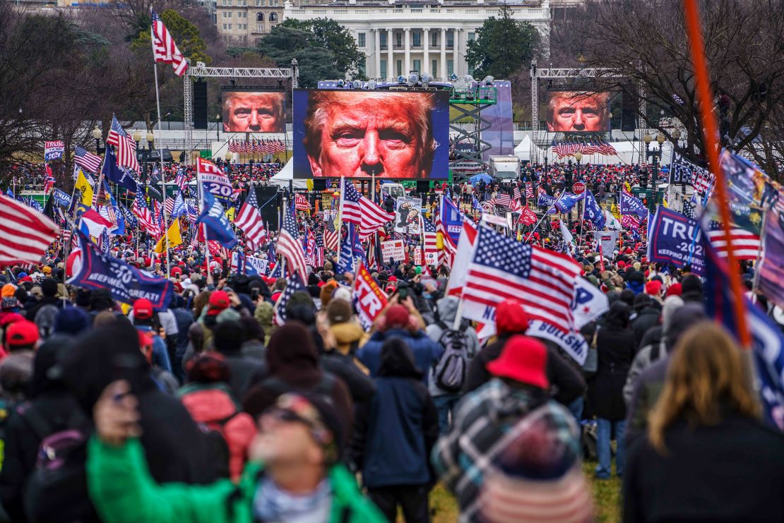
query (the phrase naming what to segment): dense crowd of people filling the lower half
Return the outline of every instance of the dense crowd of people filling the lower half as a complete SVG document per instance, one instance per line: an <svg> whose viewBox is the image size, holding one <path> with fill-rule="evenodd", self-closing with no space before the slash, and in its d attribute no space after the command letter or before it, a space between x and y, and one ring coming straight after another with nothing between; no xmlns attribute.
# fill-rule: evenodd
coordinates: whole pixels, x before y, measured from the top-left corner
<svg viewBox="0 0 784 523"><path fill-rule="evenodd" d="M241 187L277 168L230 173ZM531 166L517 187L536 171L546 192L569 175L612 195L645 175L585 169ZM484 200L512 187L439 189ZM300 217L303 234L324 226ZM548 222L530 243L560 240ZM167 272L132 240L112 253ZM460 521L593 521L590 460L593 481L622 478L624 521L784 521L784 436L762 423L750 362L706 315L702 279L649 262L629 234L612 254L593 245L573 256L609 308L580 332L582 365L532 334L520 301L499 303L495 334L481 334L446 291L448 267L412 255L371 268L388 303L365 329L334 251L281 314L285 278L231 272L220 255L208 266L203 244L172 251L162 310L67 286L53 246L0 275L3 515L430 521L441 482Z"/></svg>

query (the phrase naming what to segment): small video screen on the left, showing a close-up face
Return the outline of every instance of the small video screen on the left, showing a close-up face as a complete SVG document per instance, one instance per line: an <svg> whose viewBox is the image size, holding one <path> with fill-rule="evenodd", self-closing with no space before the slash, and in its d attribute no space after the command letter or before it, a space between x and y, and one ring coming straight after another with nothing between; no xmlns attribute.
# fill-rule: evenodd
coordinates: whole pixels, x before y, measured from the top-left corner
<svg viewBox="0 0 784 523"><path fill-rule="evenodd" d="M224 88L221 94L223 131L285 132L285 92Z"/></svg>

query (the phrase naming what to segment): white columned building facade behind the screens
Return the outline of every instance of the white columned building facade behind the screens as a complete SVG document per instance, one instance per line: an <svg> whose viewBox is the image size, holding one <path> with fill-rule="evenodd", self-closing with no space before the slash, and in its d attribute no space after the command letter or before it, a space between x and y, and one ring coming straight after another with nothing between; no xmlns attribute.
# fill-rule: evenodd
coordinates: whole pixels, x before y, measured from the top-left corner
<svg viewBox="0 0 784 523"><path fill-rule="evenodd" d="M498 15L504 3L512 9L515 20L531 23L547 45L550 0L300 0L299 5L285 2L283 17L331 18L346 27L365 52L361 68L368 78L394 80L417 71L446 80L453 73L473 73L473 64L466 63L468 42L488 17Z"/></svg>

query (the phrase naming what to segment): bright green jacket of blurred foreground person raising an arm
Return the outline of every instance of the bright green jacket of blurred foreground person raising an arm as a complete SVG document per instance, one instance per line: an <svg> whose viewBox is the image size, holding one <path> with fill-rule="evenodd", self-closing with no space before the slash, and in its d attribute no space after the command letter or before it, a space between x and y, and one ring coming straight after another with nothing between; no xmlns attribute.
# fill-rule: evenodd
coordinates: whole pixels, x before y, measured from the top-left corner
<svg viewBox="0 0 784 523"><path fill-rule="evenodd" d="M249 463L238 485L222 479L212 485L158 485L147 470L139 440L120 447L92 438L88 446L87 487L107 523L252 523L253 496L263 467ZM382 523L373 503L362 496L354 477L341 465L329 471L331 522Z"/></svg>

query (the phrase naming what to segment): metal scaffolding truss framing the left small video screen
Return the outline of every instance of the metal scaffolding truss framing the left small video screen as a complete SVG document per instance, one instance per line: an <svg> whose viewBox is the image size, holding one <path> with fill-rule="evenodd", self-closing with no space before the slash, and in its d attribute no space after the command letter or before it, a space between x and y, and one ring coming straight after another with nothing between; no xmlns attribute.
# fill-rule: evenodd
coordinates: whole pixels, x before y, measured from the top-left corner
<svg viewBox="0 0 784 523"><path fill-rule="evenodd" d="M206 67L199 62L196 66L188 67L183 75L183 97L185 108L185 163L191 163L191 153L195 149L193 140L194 112L193 112L193 78L291 78L292 90L299 87L299 67L296 59L292 60L292 67Z"/></svg>

